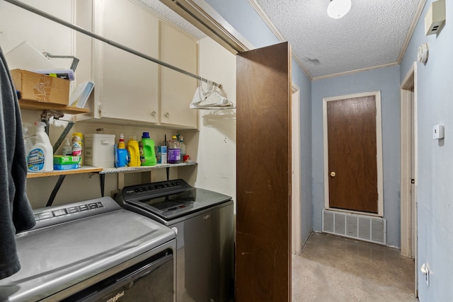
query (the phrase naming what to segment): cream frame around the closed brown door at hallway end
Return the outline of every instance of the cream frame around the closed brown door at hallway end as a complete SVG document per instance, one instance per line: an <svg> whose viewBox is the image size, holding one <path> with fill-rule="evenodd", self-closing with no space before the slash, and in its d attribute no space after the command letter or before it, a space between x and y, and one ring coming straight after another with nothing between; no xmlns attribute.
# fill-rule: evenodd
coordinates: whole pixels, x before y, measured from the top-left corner
<svg viewBox="0 0 453 302"><path fill-rule="evenodd" d="M331 98L323 98L323 153L324 153L324 207L330 209L329 204L329 191L328 191L328 137L327 137L327 103L333 100L344 100L346 98L362 98L366 96L373 96L376 100L376 151L377 151L377 214L368 212L352 211L335 209L336 211L347 211L348 213L366 214L370 216L384 216L384 184L382 174L382 112L381 112L381 92L373 91L366 93L355 93L350 95L340 95Z"/></svg>

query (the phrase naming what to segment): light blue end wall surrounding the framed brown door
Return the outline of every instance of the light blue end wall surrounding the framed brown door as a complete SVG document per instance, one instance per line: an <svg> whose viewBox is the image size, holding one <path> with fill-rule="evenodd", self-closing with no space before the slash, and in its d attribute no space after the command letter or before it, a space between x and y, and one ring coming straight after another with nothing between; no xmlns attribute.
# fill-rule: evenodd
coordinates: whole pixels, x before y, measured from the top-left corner
<svg viewBox="0 0 453 302"><path fill-rule="evenodd" d="M384 219L387 245L400 246L400 91L399 67L391 66L357 74L313 81L311 115L313 139L313 228L322 229L324 207L323 98L381 91Z"/></svg>

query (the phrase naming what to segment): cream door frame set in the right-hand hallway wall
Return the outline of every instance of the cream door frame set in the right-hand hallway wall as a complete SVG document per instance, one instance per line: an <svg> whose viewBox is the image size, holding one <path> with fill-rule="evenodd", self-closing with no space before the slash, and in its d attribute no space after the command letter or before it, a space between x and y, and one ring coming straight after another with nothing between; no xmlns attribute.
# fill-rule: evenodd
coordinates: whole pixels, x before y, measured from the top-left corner
<svg viewBox="0 0 453 302"><path fill-rule="evenodd" d="M413 93L411 91L413 88ZM418 222L417 222L417 187L418 187L418 151L417 151L417 62L414 62L409 69L408 73L401 82L401 179L400 179L400 192L401 192L401 255L411 257L414 255L415 259L415 296L418 296ZM413 95L413 98L412 98ZM411 102L413 102L413 125L411 125ZM415 146L413 156L411 158L411 127L413 127L413 145ZM414 192L411 192L411 163L412 159L415 161L413 178ZM413 194L414 204L411 201L411 194ZM412 216L414 211L414 237L412 238ZM415 250L412 250L412 243L414 242Z"/></svg>

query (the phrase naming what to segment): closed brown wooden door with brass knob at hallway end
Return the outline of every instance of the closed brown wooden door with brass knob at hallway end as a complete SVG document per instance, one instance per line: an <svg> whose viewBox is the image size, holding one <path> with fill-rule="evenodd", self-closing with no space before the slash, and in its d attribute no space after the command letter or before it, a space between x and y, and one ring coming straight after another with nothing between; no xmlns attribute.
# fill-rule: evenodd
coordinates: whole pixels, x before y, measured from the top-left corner
<svg viewBox="0 0 453 302"><path fill-rule="evenodd" d="M377 213L374 95L327 102L330 207Z"/></svg>

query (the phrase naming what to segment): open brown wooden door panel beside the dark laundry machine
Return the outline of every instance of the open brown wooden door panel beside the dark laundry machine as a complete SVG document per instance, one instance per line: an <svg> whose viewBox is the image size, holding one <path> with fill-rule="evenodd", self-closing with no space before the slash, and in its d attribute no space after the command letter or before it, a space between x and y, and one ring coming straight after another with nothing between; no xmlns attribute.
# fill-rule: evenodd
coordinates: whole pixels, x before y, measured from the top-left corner
<svg viewBox="0 0 453 302"><path fill-rule="evenodd" d="M236 301L291 301L291 54L236 62Z"/></svg>

